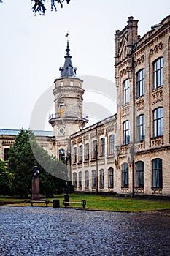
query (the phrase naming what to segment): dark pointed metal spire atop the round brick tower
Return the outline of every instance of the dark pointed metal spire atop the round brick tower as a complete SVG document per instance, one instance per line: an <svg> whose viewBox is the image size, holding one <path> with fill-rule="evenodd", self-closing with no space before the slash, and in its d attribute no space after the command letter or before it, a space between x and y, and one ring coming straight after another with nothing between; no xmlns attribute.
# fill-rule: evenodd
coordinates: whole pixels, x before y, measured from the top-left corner
<svg viewBox="0 0 170 256"><path fill-rule="evenodd" d="M64 56L65 58L65 62L63 67L60 67L60 71L61 71L61 78L70 78L70 77L76 77L76 67L73 67L72 65L72 56L69 54L70 49L69 49L69 33L66 33L66 37L67 37L67 43L66 43L66 56Z"/></svg>

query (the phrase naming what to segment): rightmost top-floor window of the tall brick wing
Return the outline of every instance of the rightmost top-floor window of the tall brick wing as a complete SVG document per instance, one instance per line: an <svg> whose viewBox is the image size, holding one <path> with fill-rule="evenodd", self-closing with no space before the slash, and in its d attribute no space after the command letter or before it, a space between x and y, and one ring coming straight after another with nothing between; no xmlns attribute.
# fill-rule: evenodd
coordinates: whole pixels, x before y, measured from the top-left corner
<svg viewBox="0 0 170 256"><path fill-rule="evenodd" d="M163 58L153 63L153 89L163 86Z"/></svg>

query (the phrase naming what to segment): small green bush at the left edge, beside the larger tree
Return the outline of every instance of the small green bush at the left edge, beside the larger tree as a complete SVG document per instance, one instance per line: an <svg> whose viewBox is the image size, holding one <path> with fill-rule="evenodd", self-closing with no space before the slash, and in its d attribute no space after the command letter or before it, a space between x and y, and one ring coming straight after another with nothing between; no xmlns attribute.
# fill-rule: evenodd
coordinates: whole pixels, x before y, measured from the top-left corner
<svg viewBox="0 0 170 256"><path fill-rule="evenodd" d="M7 162L0 160L0 195L11 195L12 173L7 170Z"/></svg>

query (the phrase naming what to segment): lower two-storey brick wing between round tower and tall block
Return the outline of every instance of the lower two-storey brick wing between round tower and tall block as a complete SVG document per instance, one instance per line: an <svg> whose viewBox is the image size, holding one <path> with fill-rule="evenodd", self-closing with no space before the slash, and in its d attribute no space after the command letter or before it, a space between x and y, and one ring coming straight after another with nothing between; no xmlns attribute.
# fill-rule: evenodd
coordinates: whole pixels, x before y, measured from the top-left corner
<svg viewBox="0 0 170 256"><path fill-rule="evenodd" d="M76 191L115 192L116 115L71 135L72 184Z"/></svg>

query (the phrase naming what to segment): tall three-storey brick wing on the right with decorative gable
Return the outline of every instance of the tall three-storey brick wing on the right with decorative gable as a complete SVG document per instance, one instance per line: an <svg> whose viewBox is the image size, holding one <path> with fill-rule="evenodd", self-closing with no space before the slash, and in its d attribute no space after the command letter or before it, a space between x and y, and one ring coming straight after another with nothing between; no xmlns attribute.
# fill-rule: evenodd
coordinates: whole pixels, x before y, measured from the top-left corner
<svg viewBox="0 0 170 256"><path fill-rule="evenodd" d="M138 21L115 34L117 193L170 195L170 16L138 35Z"/></svg>

